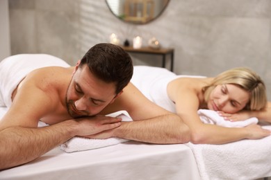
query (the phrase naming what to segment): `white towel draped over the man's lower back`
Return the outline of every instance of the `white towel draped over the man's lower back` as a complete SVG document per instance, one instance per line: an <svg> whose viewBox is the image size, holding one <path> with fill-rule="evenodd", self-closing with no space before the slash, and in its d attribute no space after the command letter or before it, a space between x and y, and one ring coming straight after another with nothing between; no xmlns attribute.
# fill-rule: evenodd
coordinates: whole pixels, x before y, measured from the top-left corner
<svg viewBox="0 0 271 180"><path fill-rule="evenodd" d="M67 62L46 54L19 54L6 57L0 63L0 106L10 107L11 95L26 75L45 66L69 67Z"/></svg>

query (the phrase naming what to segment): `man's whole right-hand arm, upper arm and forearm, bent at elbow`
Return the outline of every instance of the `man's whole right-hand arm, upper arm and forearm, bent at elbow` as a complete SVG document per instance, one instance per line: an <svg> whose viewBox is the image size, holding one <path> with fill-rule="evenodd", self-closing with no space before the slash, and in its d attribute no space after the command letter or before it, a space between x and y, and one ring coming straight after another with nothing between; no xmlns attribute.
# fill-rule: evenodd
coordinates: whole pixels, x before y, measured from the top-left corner
<svg viewBox="0 0 271 180"><path fill-rule="evenodd" d="M122 122L120 127L104 132L96 138L117 136L147 143L187 143L190 141L188 126L176 114L158 107L148 100L133 84L125 87L121 96L110 105L113 111L126 110L133 122Z"/></svg>

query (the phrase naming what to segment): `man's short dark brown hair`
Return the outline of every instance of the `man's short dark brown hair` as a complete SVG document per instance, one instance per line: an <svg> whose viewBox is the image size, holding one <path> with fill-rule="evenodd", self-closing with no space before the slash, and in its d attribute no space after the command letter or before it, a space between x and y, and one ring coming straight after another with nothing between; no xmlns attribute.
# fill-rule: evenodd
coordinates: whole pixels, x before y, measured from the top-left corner
<svg viewBox="0 0 271 180"><path fill-rule="evenodd" d="M115 93L120 93L133 75L133 62L120 46L96 44L83 56L79 67L87 64L90 72L104 82L115 82Z"/></svg>

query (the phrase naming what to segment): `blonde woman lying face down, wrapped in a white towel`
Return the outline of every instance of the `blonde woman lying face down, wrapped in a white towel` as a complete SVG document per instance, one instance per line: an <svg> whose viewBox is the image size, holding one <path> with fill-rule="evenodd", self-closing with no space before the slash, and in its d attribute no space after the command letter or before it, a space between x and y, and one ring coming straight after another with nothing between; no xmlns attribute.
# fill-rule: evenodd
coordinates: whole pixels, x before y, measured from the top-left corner
<svg viewBox="0 0 271 180"><path fill-rule="evenodd" d="M215 78L206 78L175 75L157 67L135 66L131 81L147 98L183 119L190 127L192 143L222 144L270 135L269 130L259 125L230 128L204 124L197 114L198 109L211 109L226 120L256 116L268 121L271 113L267 110L270 105L265 84L250 69L230 69Z"/></svg>

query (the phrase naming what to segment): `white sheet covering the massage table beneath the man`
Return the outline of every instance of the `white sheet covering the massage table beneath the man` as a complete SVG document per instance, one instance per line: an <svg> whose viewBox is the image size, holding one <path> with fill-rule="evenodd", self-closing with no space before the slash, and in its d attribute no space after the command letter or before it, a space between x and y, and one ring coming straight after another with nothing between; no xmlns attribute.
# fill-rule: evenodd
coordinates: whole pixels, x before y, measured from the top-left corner
<svg viewBox="0 0 271 180"><path fill-rule="evenodd" d="M198 180L200 177L188 146L129 141L74 153L56 147L30 163L1 171L0 179Z"/></svg>

